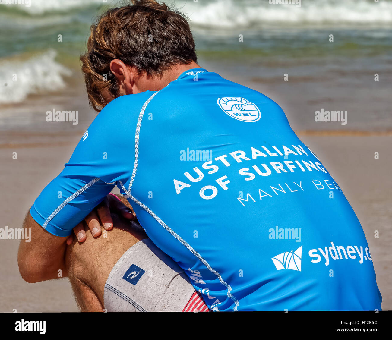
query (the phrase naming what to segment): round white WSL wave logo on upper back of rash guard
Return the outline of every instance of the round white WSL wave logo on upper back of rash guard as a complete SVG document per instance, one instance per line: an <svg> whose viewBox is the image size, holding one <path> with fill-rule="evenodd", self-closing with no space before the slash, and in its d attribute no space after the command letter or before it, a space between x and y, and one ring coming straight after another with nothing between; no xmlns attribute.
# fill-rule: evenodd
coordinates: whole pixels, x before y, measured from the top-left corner
<svg viewBox="0 0 392 340"><path fill-rule="evenodd" d="M230 117L253 123L261 117L259 108L245 98L218 98L219 107Z"/></svg>

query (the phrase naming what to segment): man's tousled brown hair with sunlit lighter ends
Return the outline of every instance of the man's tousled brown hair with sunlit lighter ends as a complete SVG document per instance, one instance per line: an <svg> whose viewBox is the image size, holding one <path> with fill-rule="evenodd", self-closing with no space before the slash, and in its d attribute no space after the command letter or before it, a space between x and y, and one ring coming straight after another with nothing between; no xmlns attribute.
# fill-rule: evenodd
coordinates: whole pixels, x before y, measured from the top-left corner
<svg viewBox="0 0 392 340"><path fill-rule="evenodd" d="M155 0L131 0L130 5L109 9L91 25L87 52L80 61L89 103L98 112L110 101L105 93L119 95L110 71L113 59L160 77L172 65L197 61L183 14Z"/></svg>

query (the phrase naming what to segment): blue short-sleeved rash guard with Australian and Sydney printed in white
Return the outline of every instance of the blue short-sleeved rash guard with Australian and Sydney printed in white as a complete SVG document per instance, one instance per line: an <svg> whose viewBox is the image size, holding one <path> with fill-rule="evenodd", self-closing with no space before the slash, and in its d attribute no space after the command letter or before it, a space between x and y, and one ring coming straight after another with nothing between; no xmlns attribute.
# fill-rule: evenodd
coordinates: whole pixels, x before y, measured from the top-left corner
<svg viewBox="0 0 392 340"><path fill-rule="evenodd" d="M358 218L260 92L192 69L114 99L31 215L70 235L115 185L214 311L381 309Z"/></svg>

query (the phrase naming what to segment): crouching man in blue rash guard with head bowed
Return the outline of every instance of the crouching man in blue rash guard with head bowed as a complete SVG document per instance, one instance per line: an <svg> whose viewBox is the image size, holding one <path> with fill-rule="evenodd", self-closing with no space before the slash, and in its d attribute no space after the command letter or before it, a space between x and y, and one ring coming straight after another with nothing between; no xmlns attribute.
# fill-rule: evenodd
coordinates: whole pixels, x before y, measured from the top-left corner
<svg viewBox="0 0 392 340"><path fill-rule="evenodd" d="M74 291L79 281L97 310L165 310L188 279L185 295L201 293L214 311L380 309L365 235L338 184L274 101L197 64L179 13L155 1L111 9L81 60L90 104L103 109L26 217L36 236L20 247L24 279L78 272ZM67 250L114 186L149 239L114 228L110 242L87 235ZM105 211L106 229L122 223ZM87 217L95 236L97 220ZM75 234L85 238L82 225ZM183 273L165 295L162 278Z"/></svg>

